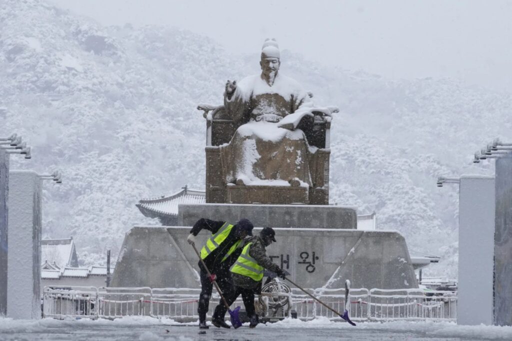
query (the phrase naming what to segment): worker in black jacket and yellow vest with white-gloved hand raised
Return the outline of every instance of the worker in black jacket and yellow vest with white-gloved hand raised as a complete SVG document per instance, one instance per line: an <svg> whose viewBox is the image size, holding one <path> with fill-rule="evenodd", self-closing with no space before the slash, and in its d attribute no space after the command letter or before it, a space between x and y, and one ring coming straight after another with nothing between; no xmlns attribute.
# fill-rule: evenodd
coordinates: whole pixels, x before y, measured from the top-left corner
<svg viewBox="0 0 512 341"><path fill-rule="evenodd" d="M211 278L208 277L206 269L201 261L199 261L201 293L199 295L197 311L199 313L200 329L208 329L206 313L208 312L213 281L217 282L223 293L232 295L231 291L234 290L234 287L229 268L242 252L242 241L245 237L252 236L253 227L248 219L240 219L237 224L232 225L226 221L201 218L190 230L190 234L187 237L189 244L195 244L196 236L201 230L211 232L211 236L201 248L201 259L210 271ZM212 324L216 327L229 328L224 319L222 321L213 320Z"/></svg>

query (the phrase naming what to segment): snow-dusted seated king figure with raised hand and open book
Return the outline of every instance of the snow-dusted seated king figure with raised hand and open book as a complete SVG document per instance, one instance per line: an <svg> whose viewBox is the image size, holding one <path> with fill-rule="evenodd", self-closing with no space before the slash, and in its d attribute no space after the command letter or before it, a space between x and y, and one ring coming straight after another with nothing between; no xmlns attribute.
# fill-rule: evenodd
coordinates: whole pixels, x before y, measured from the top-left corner
<svg viewBox="0 0 512 341"><path fill-rule="evenodd" d="M328 148L325 141L322 146L310 143L315 140L314 126L318 121L330 126L331 113L337 108L315 107L310 93L279 72L281 53L275 39L264 42L260 65L261 74L226 82L222 111L237 129L229 143L218 146L217 172L226 186L309 189L315 185L312 171L316 169L312 168L318 168L317 150ZM199 108L205 114L212 109ZM325 128L323 133L325 140Z"/></svg>

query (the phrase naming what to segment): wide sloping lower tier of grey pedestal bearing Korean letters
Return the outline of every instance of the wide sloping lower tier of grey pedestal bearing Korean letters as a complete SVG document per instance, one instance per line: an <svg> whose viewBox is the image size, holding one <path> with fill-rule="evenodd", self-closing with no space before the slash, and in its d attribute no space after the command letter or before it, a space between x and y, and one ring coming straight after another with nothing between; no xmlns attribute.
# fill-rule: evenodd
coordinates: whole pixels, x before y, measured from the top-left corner
<svg viewBox="0 0 512 341"><path fill-rule="evenodd" d="M260 228L254 228L254 234ZM417 288L404 238L395 231L276 228L267 255L306 288ZM135 226L125 236L111 286L200 288L190 226ZM197 236L201 247L209 236Z"/></svg>

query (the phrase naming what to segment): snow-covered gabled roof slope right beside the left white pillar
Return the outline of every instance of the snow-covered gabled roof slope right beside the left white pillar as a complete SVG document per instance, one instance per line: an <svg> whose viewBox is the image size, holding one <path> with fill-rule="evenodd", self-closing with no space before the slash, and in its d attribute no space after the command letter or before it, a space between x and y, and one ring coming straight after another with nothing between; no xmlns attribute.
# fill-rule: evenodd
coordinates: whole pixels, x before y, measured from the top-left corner
<svg viewBox="0 0 512 341"><path fill-rule="evenodd" d="M59 268L78 266L73 237L41 240L41 266L45 263L55 263Z"/></svg>

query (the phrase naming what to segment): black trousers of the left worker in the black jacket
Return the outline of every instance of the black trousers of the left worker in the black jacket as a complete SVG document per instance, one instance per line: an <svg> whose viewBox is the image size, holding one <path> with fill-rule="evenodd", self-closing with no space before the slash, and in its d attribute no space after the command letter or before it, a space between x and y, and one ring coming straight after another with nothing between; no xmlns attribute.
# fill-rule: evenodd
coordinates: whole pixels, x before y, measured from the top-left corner
<svg viewBox="0 0 512 341"><path fill-rule="evenodd" d="M217 284L222 290L223 294L227 294L229 296L232 295L233 288L233 280L231 278L231 272L229 268L218 269L215 272L217 275ZM214 284L210 282L208 279L208 274L201 268L199 272L199 277L201 278L201 293L199 294L199 303L197 306L197 312L199 313L199 321L206 321L206 313L208 312L208 305L210 304L211 298L211 290L214 287ZM222 303L222 299L220 300Z"/></svg>

